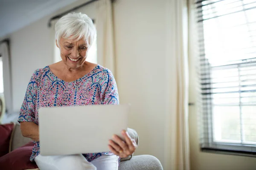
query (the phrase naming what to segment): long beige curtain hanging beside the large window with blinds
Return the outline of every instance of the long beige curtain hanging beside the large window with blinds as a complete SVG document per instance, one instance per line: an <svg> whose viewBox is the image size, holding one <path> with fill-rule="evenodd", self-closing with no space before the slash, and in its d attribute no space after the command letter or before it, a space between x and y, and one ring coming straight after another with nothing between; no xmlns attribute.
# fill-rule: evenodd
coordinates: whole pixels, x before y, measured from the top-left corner
<svg viewBox="0 0 256 170"><path fill-rule="evenodd" d="M167 0L167 114L165 161L168 170L189 170L187 0Z"/></svg>

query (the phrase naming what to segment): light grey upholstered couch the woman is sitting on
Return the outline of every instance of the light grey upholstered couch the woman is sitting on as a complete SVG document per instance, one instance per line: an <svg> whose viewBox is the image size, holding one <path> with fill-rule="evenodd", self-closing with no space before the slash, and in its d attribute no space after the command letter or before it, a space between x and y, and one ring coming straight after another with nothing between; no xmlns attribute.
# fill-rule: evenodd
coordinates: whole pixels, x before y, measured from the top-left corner
<svg viewBox="0 0 256 170"><path fill-rule="evenodd" d="M139 142L138 134L135 130L128 128L131 138ZM10 152L31 141L22 136L20 124L16 123L12 132L12 142L10 143ZM37 169L39 170L39 169ZM119 170L163 170L160 161L151 155L128 156L121 159Z"/></svg>

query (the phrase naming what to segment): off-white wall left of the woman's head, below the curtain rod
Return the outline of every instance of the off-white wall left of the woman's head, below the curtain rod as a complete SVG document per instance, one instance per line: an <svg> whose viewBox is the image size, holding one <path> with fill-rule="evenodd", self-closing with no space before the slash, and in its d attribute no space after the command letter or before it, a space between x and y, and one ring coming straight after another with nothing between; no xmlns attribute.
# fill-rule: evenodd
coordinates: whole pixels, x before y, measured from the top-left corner
<svg viewBox="0 0 256 170"><path fill-rule="evenodd" d="M33 71L52 64L47 18L11 34L12 94L14 111L19 111Z"/></svg>

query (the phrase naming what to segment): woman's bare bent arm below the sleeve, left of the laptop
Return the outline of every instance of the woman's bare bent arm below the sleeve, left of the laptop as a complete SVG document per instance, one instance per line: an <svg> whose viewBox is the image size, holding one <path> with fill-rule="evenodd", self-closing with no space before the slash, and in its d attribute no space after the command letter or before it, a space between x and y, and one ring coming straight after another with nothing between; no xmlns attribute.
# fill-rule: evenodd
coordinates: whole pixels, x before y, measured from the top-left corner
<svg viewBox="0 0 256 170"><path fill-rule="evenodd" d="M38 125L34 122L20 122L20 130L24 137L39 142Z"/></svg>

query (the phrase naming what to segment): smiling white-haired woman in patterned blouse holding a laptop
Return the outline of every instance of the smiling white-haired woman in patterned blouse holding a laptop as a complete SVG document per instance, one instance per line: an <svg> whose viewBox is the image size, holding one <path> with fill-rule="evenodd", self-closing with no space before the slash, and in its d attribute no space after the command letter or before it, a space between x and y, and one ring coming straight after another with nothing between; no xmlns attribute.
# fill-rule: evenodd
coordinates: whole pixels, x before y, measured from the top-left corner
<svg viewBox="0 0 256 170"><path fill-rule="evenodd" d="M125 141L114 135L108 145L111 152L40 155L39 108L119 104L111 71L86 61L95 35L96 28L86 14L72 13L61 17L55 24L55 39L62 61L37 69L29 81L18 122L23 136L34 141L30 161L35 161L40 170L117 170L120 158L131 155L137 147L123 130ZM84 130L93 130L93 127Z"/></svg>

